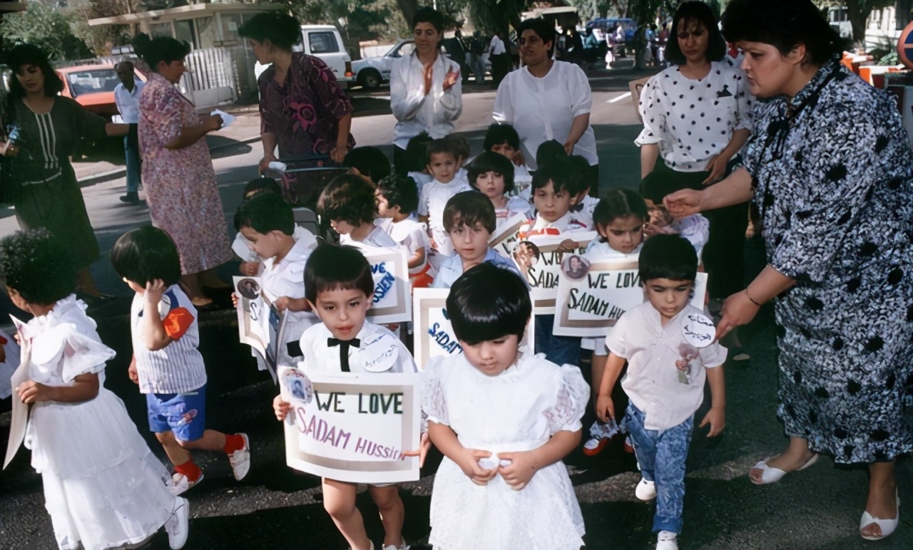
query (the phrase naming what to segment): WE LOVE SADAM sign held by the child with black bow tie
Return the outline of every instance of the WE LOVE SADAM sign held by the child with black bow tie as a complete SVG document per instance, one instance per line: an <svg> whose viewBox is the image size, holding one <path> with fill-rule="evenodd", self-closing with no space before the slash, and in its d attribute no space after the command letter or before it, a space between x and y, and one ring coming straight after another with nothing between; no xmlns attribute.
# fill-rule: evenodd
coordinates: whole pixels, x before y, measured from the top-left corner
<svg viewBox="0 0 913 550"><path fill-rule="evenodd" d="M347 483L418 480L421 399L416 373L309 373L279 369L286 463Z"/></svg>

